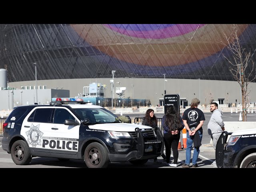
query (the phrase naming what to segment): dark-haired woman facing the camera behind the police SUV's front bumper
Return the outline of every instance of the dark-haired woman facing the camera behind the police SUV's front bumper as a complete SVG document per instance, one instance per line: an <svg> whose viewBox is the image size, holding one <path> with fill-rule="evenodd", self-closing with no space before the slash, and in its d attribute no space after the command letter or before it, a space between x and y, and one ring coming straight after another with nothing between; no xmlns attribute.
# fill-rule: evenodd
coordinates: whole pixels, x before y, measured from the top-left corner
<svg viewBox="0 0 256 192"><path fill-rule="evenodd" d="M157 119L156 119L156 116L154 114L154 110L148 109L146 111L146 115L143 118L142 125L147 125L147 126L150 126L152 128L157 127ZM162 154L162 158L166 159L166 156L164 155L164 153ZM156 158L154 158L153 163L154 164L161 164L162 162L158 161L157 157L156 157Z"/></svg>

